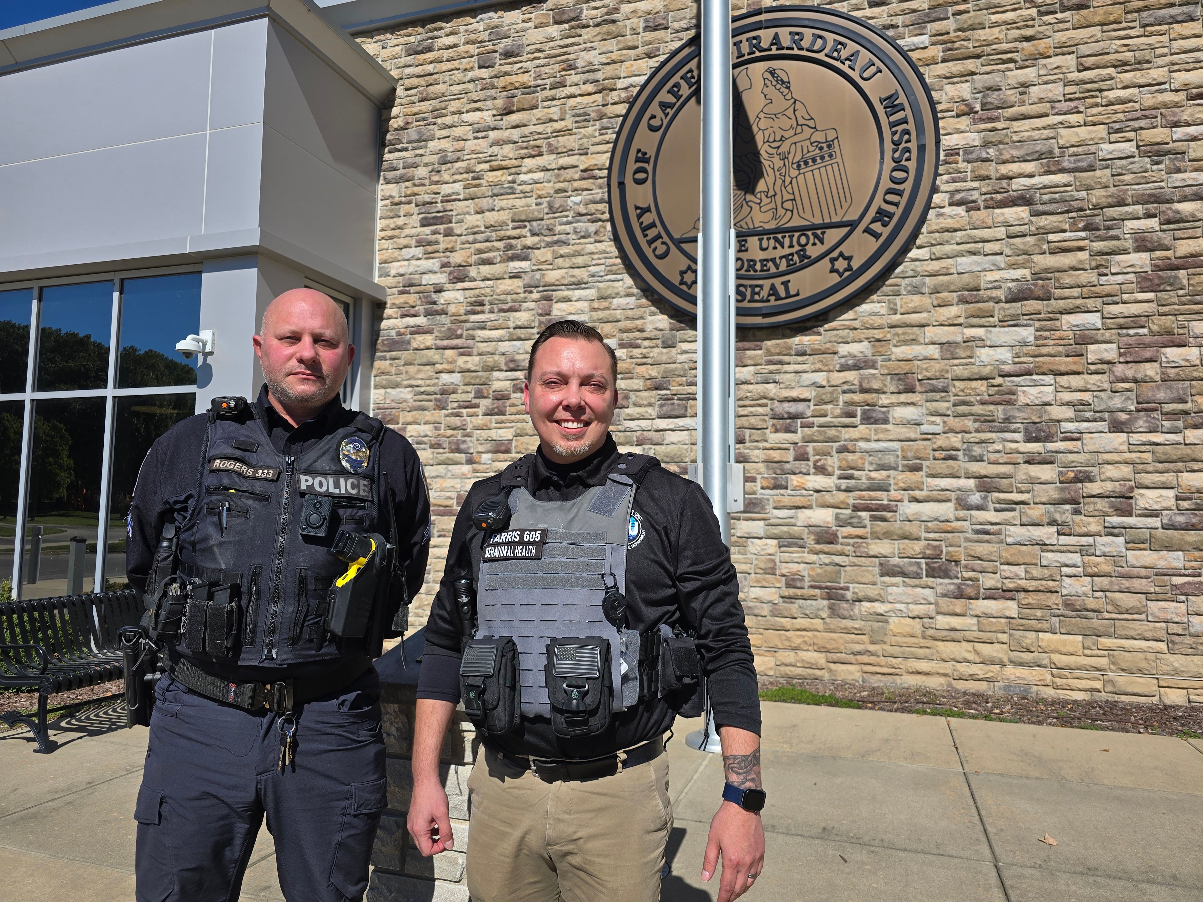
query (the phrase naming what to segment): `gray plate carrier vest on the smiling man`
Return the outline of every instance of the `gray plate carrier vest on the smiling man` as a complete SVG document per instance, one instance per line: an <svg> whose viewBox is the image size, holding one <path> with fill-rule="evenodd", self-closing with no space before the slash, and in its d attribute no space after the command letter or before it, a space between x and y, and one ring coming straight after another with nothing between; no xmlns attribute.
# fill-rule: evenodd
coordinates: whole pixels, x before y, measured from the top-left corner
<svg viewBox="0 0 1203 902"><path fill-rule="evenodd" d="M627 539L638 486L621 470L644 471L654 463L656 458L644 455L623 455L604 486L594 486L571 502L535 500L522 485L510 493L506 529L546 529L547 541L539 560L481 563L476 635L509 636L517 645L523 717L551 717L544 683L549 639L608 639L612 710L622 711L634 704L639 689L639 634L620 635L603 616L602 599L606 583L616 582L626 594ZM510 473L508 468L506 475ZM502 485L506 486L505 475ZM624 651L627 672L636 680L634 686L630 677L623 686Z"/></svg>

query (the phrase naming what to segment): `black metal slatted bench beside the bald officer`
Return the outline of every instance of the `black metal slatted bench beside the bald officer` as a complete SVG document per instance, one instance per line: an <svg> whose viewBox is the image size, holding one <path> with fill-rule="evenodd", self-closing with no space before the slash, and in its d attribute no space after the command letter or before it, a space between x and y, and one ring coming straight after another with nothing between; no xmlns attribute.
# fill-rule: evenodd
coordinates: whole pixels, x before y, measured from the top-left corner
<svg viewBox="0 0 1203 902"><path fill-rule="evenodd" d="M37 693L36 719L20 711L0 714L0 719L8 726L26 724L37 738L37 750L53 752L48 714L124 698L124 690L54 708L47 707L49 696L120 680L125 669L118 631L135 625L141 616L142 605L132 589L0 604L0 688Z"/></svg>

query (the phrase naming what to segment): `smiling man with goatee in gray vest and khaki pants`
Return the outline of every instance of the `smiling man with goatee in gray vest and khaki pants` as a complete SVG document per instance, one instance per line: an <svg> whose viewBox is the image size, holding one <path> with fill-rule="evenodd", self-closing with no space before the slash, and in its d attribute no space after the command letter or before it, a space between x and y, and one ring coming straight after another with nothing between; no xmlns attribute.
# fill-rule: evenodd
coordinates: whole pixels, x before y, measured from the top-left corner
<svg viewBox="0 0 1203 902"><path fill-rule="evenodd" d="M657 902L672 825L664 744L710 693L727 787L701 879L764 864L760 707L739 581L701 487L610 438L615 351L555 322L523 402L539 450L476 482L426 627L409 832L452 845L439 750L457 702L482 742L468 789L475 902Z"/></svg>

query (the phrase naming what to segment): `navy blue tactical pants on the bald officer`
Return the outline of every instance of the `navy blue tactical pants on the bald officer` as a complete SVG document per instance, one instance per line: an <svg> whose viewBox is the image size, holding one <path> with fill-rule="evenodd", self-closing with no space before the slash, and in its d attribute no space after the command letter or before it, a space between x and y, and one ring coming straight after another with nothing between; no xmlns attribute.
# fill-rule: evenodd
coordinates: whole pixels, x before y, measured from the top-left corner
<svg viewBox="0 0 1203 902"><path fill-rule="evenodd" d="M233 902L259 827L289 902L362 898L380 813L380 680L369 670L296 712L295 769L277 770L277 717L155 689L137 808L138 902Z"/></svg>

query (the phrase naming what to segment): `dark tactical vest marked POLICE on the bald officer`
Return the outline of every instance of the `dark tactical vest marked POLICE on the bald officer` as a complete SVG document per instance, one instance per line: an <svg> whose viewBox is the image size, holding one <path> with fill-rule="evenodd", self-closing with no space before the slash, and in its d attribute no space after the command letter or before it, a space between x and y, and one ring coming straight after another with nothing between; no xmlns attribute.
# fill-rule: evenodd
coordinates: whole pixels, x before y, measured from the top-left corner
<svg viewBox="0 0 1203 902"><path fill-rule="evenodd" d="M336 640L322 628L330 586L348 566L326 552L339 529L379 533L387 522L377 453L384 429L358 414L304 453L285 456L253 409L211 416L197 497L179 528L179 572L237 583L241 617L239 647L209 660L289 666L363 653L362 639ZM328 499L318 505L328 508L324 535L301 529L316 497Z"/></svg>

